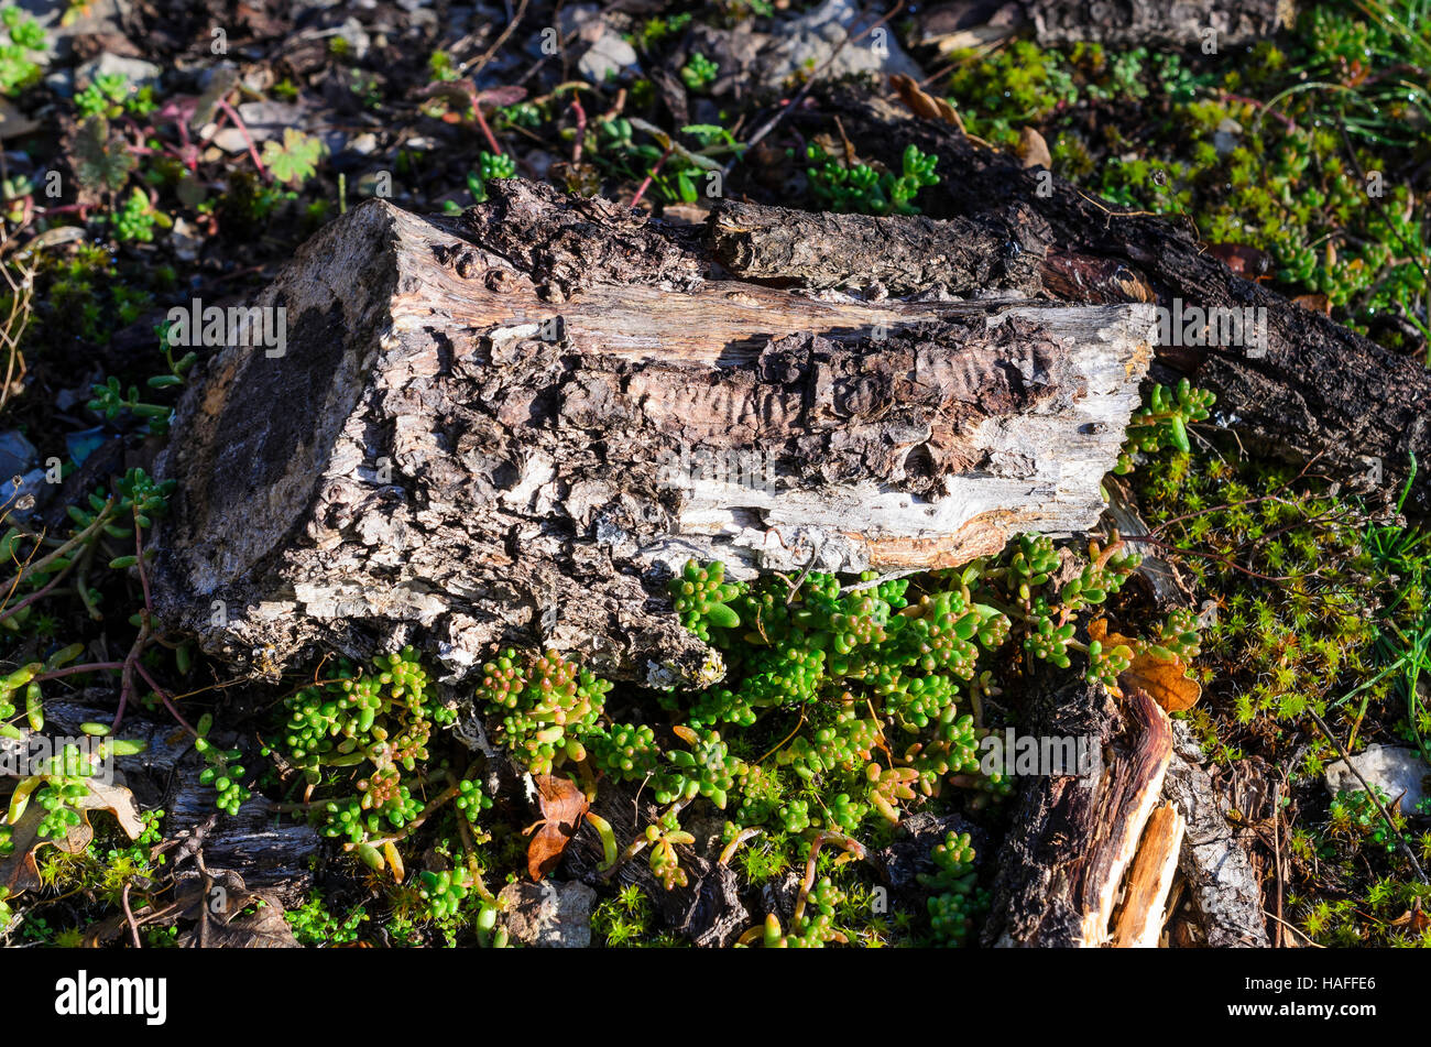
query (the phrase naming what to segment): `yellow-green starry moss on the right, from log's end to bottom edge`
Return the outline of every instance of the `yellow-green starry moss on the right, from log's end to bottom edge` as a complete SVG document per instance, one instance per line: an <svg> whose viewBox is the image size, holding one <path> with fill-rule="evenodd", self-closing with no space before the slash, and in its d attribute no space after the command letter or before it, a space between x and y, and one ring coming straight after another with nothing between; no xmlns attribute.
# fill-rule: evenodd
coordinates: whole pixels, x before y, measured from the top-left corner
<svg viewBox="0 0 1431 1047"><path fill-rule="evenodd" d="M1321 772L1339 751L1312 717L1352 751L1372 738L1427 749L1431 538L1400 516L1411 481L1378 508L1232 445L1165 452L1138 483L1162 555L1211 619L1203 699L1183 715L1213 761L1255 754L1291 771L1289 918L1324 945L1431 945L1402 848L1425 861L1431 834L1412 838L1400 812L1388 824L1365 792L1328 801Z"/></svg>

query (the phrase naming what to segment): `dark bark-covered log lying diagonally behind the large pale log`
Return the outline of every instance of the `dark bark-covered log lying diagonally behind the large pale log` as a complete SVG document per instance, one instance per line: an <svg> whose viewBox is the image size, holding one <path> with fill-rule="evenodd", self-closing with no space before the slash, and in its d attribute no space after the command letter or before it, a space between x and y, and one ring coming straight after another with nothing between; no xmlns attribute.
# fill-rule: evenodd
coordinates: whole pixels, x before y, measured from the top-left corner
<svg viewBox="0 0 1431 1047"><path fill-rule="evenodd" d="M840 119L840 127L834 117ZM1327 468L1367 485L1395 488L1410 453L1431 455L1431 370L1234 273L1185 225L1106 203L1043 169L1023 169L957 127L914 117L869 92L824 89L823 104L790 117L806 133L847 134L861 157L897 169L909 144L942 157L944 174L920 193L934 217L975 219L1032 210L1047 223L1045 286L1066 302L1155 300L1175 306L1252 310L1265 339L1218 339L1202 348L1162 345L1158 360L1218 395L1213 418L1236 423L1239 438L1289 456L1321 453ZM1378 202L1368 200L1368 206ZM1109 277L1078 279L1086 263ZM1072 273L1072 276L1070 276ZM1265 310L1265 312L1258 312ZM1169 325L1169 330L1172 325ZM1379 462L1379 471L1377 465ZM1421 469L1411 505L1431 509L1431 475Z"/></svg>

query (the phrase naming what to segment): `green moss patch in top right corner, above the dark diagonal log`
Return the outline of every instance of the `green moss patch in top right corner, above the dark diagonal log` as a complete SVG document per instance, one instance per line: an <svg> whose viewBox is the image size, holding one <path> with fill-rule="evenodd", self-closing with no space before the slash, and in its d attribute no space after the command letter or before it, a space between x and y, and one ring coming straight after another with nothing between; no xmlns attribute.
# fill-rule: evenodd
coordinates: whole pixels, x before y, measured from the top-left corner
<svg viewBox="0 0 1431 1047"><path fill-rule="evenodd" d="M1348 326L1425 349L1431 253L1412 176L1431 30L1415 6L1315 6L1285 44L1235 63L1030 41L957 57L947 89L970 132L1013 146L1036 126L1088 190L1264 250L1288 293L1325 295Z"/></svg>

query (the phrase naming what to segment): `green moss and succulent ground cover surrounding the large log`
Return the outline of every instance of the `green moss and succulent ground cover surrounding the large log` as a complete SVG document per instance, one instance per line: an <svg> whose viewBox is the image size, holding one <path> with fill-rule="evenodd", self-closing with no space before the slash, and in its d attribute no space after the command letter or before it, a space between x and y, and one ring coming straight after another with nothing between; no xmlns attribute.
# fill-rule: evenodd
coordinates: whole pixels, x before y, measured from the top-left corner
<svg viewBox="0 0 1431 1047"><path fill-rule="evenodd" d="M1410 814L1387 825L1364 794L1328 797L1319 774L1337 744L1317 718L1352 749L1425 748L1431 539L1404 519L1397 489L1349 498L1315 465L1248 453L1209 422L1196 390L1149 390L1119 466L1132 469L1151 541L1100 534L1056 548L1027 536L959 571L899 581L737 584L720 565L690 565L673 579L673 614L730 667L697 695L612 685L535 651L494 652L482 678L452 695L408 649L319 657L272 691L243 684L240 702L225 667L152 621L143 565L166 492L146 466L193 365L166 343L162 318L195 295L259 286L363 196L454 210L485 199L491 179L521 173L677 215L740 159L727 193L778 183L796 193L784 203L917 213L954 174L937 156L913 150L884 170L784 132L747 154L757 112L711 97L718 66L684 40L701 21L773 14L673 6L628 24L643 64L670 64L687 90L690 122L677 124L645 74L598 84L550 69L518 87L531 59L517 44L498 49L499 72L479 69L474 86L479 54L435 30L381 44L335 33L301 63L245 59L245 76L215 69L203 83L177 73L203 49L156 43L159 82L106 74L66 92L44 77L76 62L3 9L0 92L52 116L7 142L0 409L56 479L96 448L127 461L67 491L69 503L52 506L60 528L19 513L4 524L0 719L43 727L47 701L107 691L114 714L124 708L113 745L124 744L126 721L187 732L220 818L263 800L276 817L313 824L328 842L312 893L286 914L305 945L508 944L497 894L527 875L534 811L518 791L489 788L492 761L461 737L474 714L519 771L587 792L640 790L661 805L634 838L608 841L608 865L645 862L678 885L691 828L714 820L750 897L778 888L801 903L753 924L744 944L960 945L987 905L1009 818L1010 782L979 765L979 741L1017 727L1019 698L1043 664L1108 682L1156 649L1189 661L1203 684L1203 699L1179 715L1208 755L1221 765L1255 757L1285 784L1264 831L1281 834L1284 915L1296 933L1427 944L1424 891L1401 845L1425 862L1427 822ZM1228 57L1023 40L954 56L926 89L997 144L1036 127L1055 169L1086 192L1189 222L1249 275L1325 296L1308 306L1424 356L1424 6L1314 6L1292 31ZM302 117L232 152L199 139L220 124L246 133L248 103L293 104ZM333 137L339 124L356 130ZM52 170L59 197L46 192ZM1374 176L1379 206L1365 206ZM1155 615L1126 585L1143 554L1179 566L1188 612ZM1105 649L1088 635L1105 616L1135 639ZM94 737L107 728L92 727ZM16 858L16 795L33 797L53 840L77 817L82 771L60 761L0 785L10 801L0 861ZM917 903L892 905L859 855L896 841L896 822L917 811L960 815L987 842L949 834L926 855ZM40 850L40 887L0 897L6 938L77 944L126 898L157 904L169 890L165 814L142 818L135 840L97 814L87 847ZM680 944L657 913L641 888L607 884L594 941ZM179 927L156 921L142 937L175 944Z"/></svg>

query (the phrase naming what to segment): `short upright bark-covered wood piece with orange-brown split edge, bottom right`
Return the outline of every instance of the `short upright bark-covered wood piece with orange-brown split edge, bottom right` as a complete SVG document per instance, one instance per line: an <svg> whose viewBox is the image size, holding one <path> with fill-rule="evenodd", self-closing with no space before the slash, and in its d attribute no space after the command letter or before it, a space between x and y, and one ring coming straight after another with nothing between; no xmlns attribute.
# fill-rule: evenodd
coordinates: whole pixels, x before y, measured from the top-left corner
<svg viewBox="0 0 1431 1047"><path fill-rule="evenodd" d="M1089 738L1105 755L1083 775L1023 781L999 854L986 944L1098 947L1143 825L1158 802L1172 731L1145 691L1115 704L1098 684L1039 689L1026 712L1037 738Z"/></svg>

